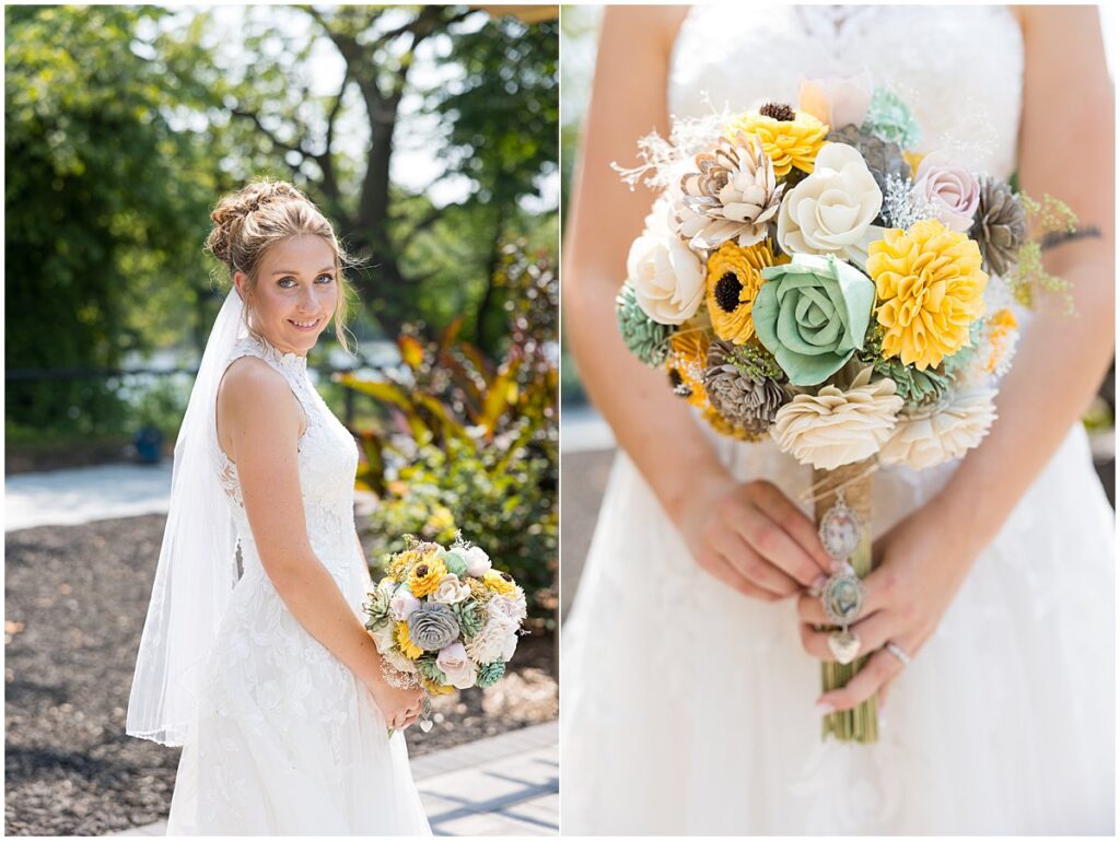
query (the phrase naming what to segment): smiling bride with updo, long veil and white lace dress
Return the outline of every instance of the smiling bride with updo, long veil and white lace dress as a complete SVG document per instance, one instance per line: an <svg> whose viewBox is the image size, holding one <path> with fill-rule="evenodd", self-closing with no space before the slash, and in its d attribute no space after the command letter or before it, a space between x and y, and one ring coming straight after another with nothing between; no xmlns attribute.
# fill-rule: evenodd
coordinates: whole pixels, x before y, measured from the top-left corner
<svg viewBox="0 0 1120 841"><path fill-rule="evenodd" d="M345 255L282 181L212 218L233 289L175 448L128 732L183 745L168 834L430 834L400 732L421 694L363 626L357 447L307 374L328 325L345 347Z"/></svg>

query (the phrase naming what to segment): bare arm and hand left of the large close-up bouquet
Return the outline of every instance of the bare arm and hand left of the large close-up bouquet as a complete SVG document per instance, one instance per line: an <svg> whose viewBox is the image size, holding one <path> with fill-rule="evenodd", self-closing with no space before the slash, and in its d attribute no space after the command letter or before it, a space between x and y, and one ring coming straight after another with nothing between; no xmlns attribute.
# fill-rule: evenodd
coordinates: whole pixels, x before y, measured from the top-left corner
<svg viewBox="0 0 1120 841"><path fill-rule="evenodd" d="M812 524L773 486L737 485L664 372L635 359L615 325L626 254L653 194L629 191L610 163L633 161L650 131L668 133L669 58L684 15L681 7L604 12L564 237L564 331L588 394L698 562L741 592L774 598L827 567Z"/></svg>

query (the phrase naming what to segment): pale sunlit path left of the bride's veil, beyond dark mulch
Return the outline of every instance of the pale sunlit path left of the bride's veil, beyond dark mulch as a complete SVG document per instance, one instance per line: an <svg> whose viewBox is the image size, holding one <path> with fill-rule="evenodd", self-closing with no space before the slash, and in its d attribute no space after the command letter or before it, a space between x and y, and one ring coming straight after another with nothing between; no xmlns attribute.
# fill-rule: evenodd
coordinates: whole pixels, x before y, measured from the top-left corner
<svg viewBox="0 0 1120 841"><path fill-rule="evenodd" d="M6 476L3 530L165 514L170 494L170 459Z"/></svg>

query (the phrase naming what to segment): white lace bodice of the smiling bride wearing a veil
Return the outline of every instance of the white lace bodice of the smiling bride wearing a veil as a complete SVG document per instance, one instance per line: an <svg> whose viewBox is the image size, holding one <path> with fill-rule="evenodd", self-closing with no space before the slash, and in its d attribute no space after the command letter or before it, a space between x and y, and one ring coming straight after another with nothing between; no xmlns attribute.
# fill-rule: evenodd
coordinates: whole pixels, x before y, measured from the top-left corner
<svg viewBox="0 0 1120 841"><path fill-rule="evenodd" d="M291 387L307 418L299 439L299 482L307 521L307 536L316 557L332 572L348 571L354 562L354 474L357 445L315 390L307 358L280 353L265 339L250 336L237 342L230 363L255 356L274 368ZM245 572L260 566L260 555L245 515L236 465L216 446L222 487L230 501L241 543Z"/></svg>

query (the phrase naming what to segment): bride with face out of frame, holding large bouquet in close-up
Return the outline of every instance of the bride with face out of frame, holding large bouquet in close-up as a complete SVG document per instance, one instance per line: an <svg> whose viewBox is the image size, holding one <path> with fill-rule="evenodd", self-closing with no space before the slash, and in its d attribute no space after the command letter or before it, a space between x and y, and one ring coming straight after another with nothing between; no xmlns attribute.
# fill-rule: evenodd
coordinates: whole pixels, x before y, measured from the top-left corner
<svg viewBox="0 0 1120 841"><path fill-rule="evenodd" d="M610 163L670 113L795 104L801 77L865 67L924 151L1017 169L1103 235L1047 252L1077 315L1024 331L983 443L876 474L853 629L878 651L821 695L824 557L791 502L811 469L710 432L627 352L614 298L652 195ZM606 10L563 293L620 452L562 637L566 833L1112 833L1113 515L1079 423L1113 351L1112 112L1091 8ZM878 744L821 741L874 693Z"/></svg>

